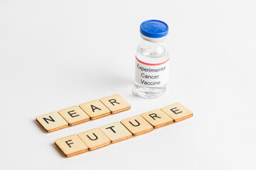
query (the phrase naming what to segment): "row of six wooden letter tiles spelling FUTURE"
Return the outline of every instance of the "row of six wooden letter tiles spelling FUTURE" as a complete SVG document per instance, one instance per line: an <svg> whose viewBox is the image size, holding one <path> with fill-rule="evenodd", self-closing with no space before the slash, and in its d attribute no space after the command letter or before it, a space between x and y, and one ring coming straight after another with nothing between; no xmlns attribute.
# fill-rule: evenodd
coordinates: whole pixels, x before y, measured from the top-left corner
<svg viewBox="0 0 256 170"><path fill-rule="evenodd" d="M121 108L120 108L121 109ZM78 135L71 135L55 140L55 145L60 149L65 157L72 157L100 147L110 145L110 143L127 140L132 136L142 135L151 132L153 129L169 125L193 116L188 108L175 103L165 108L156 109L121 120L121 122L104 125L100 128L87 130Z"/></svg>

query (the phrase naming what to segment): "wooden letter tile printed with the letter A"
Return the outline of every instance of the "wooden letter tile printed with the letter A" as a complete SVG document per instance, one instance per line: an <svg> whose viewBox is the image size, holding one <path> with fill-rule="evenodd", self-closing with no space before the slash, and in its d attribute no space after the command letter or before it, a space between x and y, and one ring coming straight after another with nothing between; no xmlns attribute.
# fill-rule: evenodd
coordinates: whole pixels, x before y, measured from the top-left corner
<svg viewBox="0 0 256 170"><path fill-rule="evenodd" d="M91 120L110 115L110 110L99 100L80 104L79 107L82 108L82 111L85 111L85 113L90 116Z"/></svg>

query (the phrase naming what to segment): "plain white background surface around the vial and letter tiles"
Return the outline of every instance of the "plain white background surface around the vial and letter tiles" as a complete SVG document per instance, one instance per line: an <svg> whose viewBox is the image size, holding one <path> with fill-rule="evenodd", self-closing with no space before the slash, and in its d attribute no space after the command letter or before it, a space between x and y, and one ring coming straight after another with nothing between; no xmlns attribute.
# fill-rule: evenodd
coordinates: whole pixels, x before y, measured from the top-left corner
<svg viewBox="0 0 256 170"><path fill-rule="evenodd" d="M255 1L0 1L0 169L256 169ZM132 94L139 24L169 24L164 96ZM35 118L132 109L46 134ZM53 141L181 102L193 118L65 159Z"/></svg>

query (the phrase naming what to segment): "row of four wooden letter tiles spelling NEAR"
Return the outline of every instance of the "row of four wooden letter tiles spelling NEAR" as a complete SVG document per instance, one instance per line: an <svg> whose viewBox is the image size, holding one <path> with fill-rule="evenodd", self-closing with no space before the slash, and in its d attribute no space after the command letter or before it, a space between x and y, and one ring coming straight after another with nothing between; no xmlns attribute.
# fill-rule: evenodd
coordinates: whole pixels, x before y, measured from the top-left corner
<svg viewBox="0 0 256 170"><path fill-rule="evenodd" d="M51 112L36 117L36 121L46 132L53 132L68 126L85 123L89 120L102 118L106 115L127 111L131 106L119 94L101 98L65 108L58 112Z"/></svg>

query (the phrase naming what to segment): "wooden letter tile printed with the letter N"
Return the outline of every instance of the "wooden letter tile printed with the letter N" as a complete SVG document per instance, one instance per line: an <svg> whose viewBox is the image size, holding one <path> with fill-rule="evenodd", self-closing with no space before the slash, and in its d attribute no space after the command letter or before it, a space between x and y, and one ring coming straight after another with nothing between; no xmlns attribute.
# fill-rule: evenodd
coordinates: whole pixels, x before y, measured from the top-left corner
<svg viewBox="0 0 256 170"><path fill-rule="evenodd" d="M53 132L68 127L68 123L58 112L51 112L36 117L36 121L43 127L46 132Z"/></svg>

